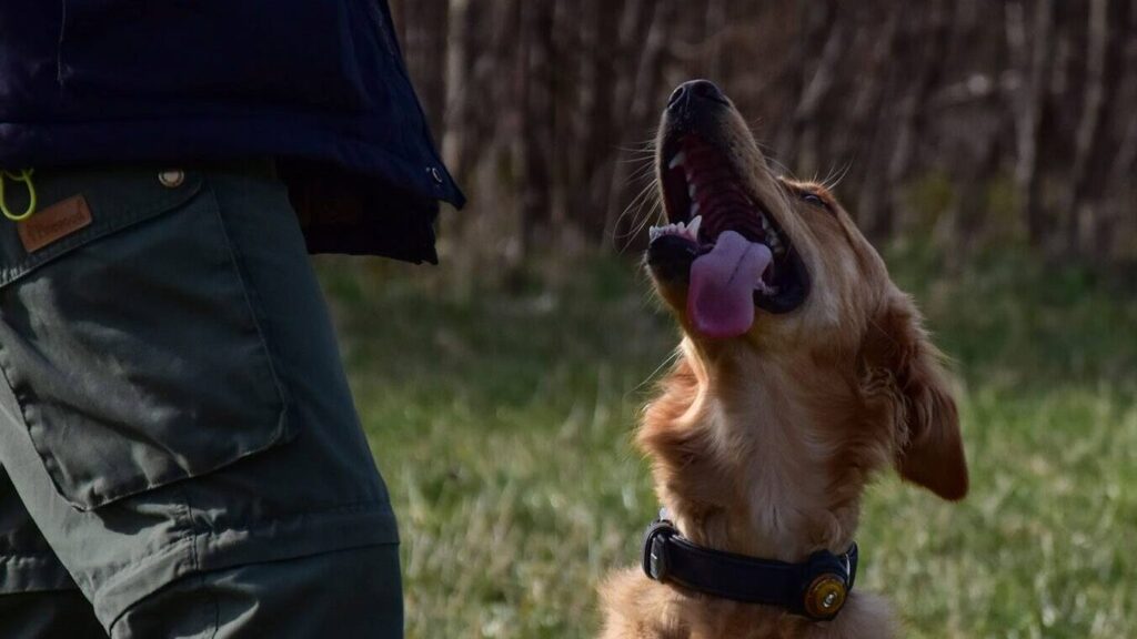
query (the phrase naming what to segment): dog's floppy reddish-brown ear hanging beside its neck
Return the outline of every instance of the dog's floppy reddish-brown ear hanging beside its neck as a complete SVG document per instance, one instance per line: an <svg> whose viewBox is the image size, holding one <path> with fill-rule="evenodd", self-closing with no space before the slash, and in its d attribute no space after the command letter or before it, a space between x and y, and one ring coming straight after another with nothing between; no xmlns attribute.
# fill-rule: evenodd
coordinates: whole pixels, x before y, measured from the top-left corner
<svg viewBox="0 0 1137 639"><path fill-rule="evenodd" d="M912 300L897 293L874 322L870 365L890 379L888 413L895 429L896 470L948 500L968 493L960 416L943 355L928 339Z"/></svg>

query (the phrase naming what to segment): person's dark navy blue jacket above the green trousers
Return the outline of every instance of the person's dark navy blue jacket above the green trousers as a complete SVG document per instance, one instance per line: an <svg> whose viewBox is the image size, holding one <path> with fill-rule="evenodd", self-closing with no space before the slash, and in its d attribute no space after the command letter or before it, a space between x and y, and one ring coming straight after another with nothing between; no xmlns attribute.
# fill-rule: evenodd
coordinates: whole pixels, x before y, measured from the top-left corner
<svg viewBox="0 0 1137 639"><path fill-rule="evenodd" d="M275 156L313 251L460 206L385 0L0 0L0 167Z"/></svg>

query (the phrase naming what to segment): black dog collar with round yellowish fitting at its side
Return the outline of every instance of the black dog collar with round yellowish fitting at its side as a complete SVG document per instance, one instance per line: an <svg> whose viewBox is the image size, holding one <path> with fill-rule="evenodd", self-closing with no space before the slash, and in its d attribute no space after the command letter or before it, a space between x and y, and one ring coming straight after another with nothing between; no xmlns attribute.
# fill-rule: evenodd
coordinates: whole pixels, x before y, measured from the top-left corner
<svg viewBox="0 0 1137 639"><path fill-rule="evenodd" d="M779 606L816 621L831 620L841 611L856 579L856 543L843 555L819 550L799 564L712 550L691 543L664 513L644 537L644 572L656 581Z"/></svg>

